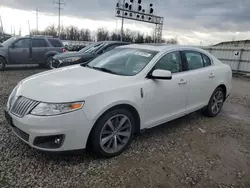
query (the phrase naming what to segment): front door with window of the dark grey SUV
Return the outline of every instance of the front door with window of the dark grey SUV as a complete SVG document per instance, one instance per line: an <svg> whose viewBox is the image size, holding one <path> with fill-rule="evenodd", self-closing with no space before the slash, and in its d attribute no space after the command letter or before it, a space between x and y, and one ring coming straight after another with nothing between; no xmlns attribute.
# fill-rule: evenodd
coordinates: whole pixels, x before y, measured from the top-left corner
<svg viewBox="0 0 250 188"><path fill-rule="evenodd" d="M13 64L30 63L30 39L22 38L9 47L9 59Z"/></svg>

